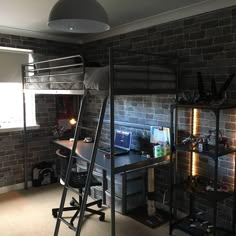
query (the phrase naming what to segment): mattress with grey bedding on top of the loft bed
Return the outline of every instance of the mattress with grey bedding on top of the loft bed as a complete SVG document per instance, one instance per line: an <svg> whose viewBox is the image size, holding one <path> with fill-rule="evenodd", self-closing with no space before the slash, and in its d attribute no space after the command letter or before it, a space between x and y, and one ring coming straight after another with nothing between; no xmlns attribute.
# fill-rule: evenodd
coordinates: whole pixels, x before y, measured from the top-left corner
<svg viewBox="0 0 236 236"><path fill-rule="evenodd" d="M175 89L176 75L163 66L114 66L114 89ZM84 77L84 79L83 79ZM85 75L81 69L68 69L54 75L28 77L26 89L44 90L107 90L109 88L109 66L87 67Z"/></svg>

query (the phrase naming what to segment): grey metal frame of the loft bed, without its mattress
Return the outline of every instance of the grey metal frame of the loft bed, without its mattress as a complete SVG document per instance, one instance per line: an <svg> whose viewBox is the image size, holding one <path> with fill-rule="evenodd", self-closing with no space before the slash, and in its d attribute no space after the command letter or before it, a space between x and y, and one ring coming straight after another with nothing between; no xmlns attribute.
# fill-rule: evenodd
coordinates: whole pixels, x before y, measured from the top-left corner
<svg viewBox="0 0 236 236"><path fill-rule="evenodd" d="M163 63L163 65L168 65L168 67L172 68L175 70L175 75L176 75L176 80L174 81L175 86L173 89L168 89L168 88L162 88L162 89L151 89L151 88L143 88L143 89L116 89L115 85L114 85L114 81L115 81L115 59L116 59L116 55L123 55L124 53L130 53L133 56L137 56L137 55L141 55L141 56L145 56L148 58L151 58L150 61L148 61L147 63L150 65L150 63L154 63L158 60L164 60L165 63ZM116 54L116 55L115 55ZM76 56L73 56L76 57ZM84 61L83 58L79 55L77 55L77 57L81 58L81 63L76 64L75 66L82 66L83 68L83 73L85 73L85 66L84 66ZM68 58L72 58L72 57L65 57L64 59L68 59ZM60 60L60 59L55 59L55 60ZM49 61L53 61L53 60L49 60ZM109 89L106 91L94 91L94 90L87 90L86 92L84 90L79 90L79 91L59 91L59 90L54 90L54 91L40 91L40 90L34 90L34 93L37 94L78 94L78 95L84 95L85 93L89 93L89 94L105 94L108 96L108 100L109 100L109 110L110 110L110 137L114 137L114 129L115 129L115 119L114 119L114 107L115 107L115 103L114 103L114 99L115 96L118 95L147 95L147 94L175 94L177 95L178 89L179 89L179 70L178 70L178 65L177 63L172 63L173 58L169 58L167 56L164 55L157 55L157 54L151 54L151 53L142 53L142 52L134 52L134 51L124 51L124 50L118 50L118 49L109 49ZM44 62L48 62L48 61L44 61ZM43 62L39 62L39 63L43 63ZM38 64L39 64L38 63ZM35 64L37 63L32 63L30 66L35 66ZM142 61L139 61L139 64L142 65ZM29 64L27 65L29 66ZM35 67L32 70L26 71L25 70L26 65L23 65L22 67L22 76L23 76L23 94L26 92L29 92L29 89L25 89L24 84L25 84L25 77L26 77L26 73L27 72L32 72L32 71L37 71L37 69L35 69ZM60 68L60 67L58 67ZM48 70L50 68L45 68L45 70ZM57 69L54 67L54 69ZM147 71L148 72L148 71ZM24 99L24 155L25 155L25 161L24 161L24 167L25 167L25 187L27 188L27 139L26 139L26 113L25 113L25 99ZM103 120L99 120L99 124L101 125L103 122ZM77 128L76 128L77 129ZM76 141L76 139L75 139ZM75 145L74 146L74 152L75 152ZM110 139L110 146L114 147L114 139ZM97 145L95 144L95 148L97 147ZM95 151L96 152L96 151ZM73 148L71 151L71 157L73 156ZM111 235L115 236L115 173L114 173L114 149L111 148ZM95 161L95 160L94 160ZM148 166L149 167L149 166ZM89 188L89 183L86 184L85 187L85 196L88 195L88 188ZM85 197L86 198L86 197ZM85 201L87 201L87 198L85 199ZM82 207L81 209L84 208L86 202L83 201L82 202ZM82 226L82 220L81 218L83 218L83 211L82 211L82 217L79 218L79 223L78 223L78 227L81 228ZM58 229L59 230L59 229ZM58 232L57 232L58 233ZM57 235L57 234L54 234ZM77 231L77 236L80 235L80 229Z"/></svg>

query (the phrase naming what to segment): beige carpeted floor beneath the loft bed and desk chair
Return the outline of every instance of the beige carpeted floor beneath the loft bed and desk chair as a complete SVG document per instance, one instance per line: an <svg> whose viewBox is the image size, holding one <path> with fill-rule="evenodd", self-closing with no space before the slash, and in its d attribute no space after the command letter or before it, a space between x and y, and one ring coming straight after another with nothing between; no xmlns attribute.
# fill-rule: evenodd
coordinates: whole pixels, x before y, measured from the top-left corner
<svg viewBox="0 0 236 236"><path fill-rule="evenodd" d="M60 202L62 187L58 184L29 190L13 191L0 195L0 235L1 236L52 236L56 220L51 209ZM73 193L68 194L68 202ZM105 222L98 216L87 216L81 236L110 236L110 209L104 207ZM60 236L75 235L61 223ZM116 236L168 236L168 224L151 229L127 216L116 214ZM184 236L175 232L176 236Z"/></svg>

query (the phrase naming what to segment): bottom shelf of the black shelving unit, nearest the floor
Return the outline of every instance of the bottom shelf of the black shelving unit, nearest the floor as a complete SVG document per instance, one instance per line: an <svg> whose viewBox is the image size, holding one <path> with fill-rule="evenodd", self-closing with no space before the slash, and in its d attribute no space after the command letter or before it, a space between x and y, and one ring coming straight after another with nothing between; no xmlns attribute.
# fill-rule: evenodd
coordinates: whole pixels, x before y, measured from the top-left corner
<svg viewBox="0 0 236 236"><path fill-rule="evenodd" d="M190 217L185 217L181 220L176 221L172 227L173 229L180 229L187 234L192 236L205 236L206 235L206 226L202 226L203 221L192 222ZM190 225L194 224L196 227L191 227ZM234 236L234 234L223 228L216 228L217 236ZM213 234L212 234L213 235Z"/></svg>

